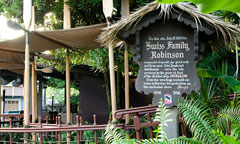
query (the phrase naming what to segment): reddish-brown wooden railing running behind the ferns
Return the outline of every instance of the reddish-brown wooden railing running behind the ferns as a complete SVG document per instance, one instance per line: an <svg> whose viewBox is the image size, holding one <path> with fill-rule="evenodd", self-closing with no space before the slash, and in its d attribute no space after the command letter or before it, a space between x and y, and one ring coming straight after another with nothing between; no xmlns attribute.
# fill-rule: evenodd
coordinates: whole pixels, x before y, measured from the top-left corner
<svg viewBox="0 0 240 144"><path fill-rule="evenodd" d="M146 106L146 107L138 107L133 108L129 110L118 110L114 114L114 116L117 119L125 119L125 116L129 114L133 117L133 125L125 125L124 124L116 124L115 127L130 130L133 129L136 132L136 138L138 140L141 139L141 128L148 128L150 138L153 138L152 134L152 127L157 126L157 122L151 121L151 114L155 113L157 109L157 106ZM147 122L141 123L140 117L142 115L147 115ZM61 123L61 117L56 117L56 123L55 124L49 124L49 118L46 117L45 120L42 120L41 117L38 119L38 123L31 123L30 128L20 128L20 127L14 127L13 125L13 119L15 119L13 116L15 115L5 115L5 118L9 119L9 127L0 128L0 133L8 133L9 134L9 143L13 143L13 136L15 133L35 133L36 134L36 141L38 143L43 143L44 140L48 139L50 134L54 135L55 141L58 143L62 143L62 133L66 132L76 132L77 137L77 144L80 144L81 141L83 141L83 133L84 131L92 131L93 132L93 141L95 144L98 143L98 136L97 131L102 131L106 129L107 124L98 125L97 124L97 117L96 115L93 116L93 124L92 125L86 125L83 123L83 119L79 116L76 116L76 124L75 125L66 125ZM16 115L19 117L20 115ZM20 117L19 117L20 118ZM42 122L45 123L42 123Z"/></svg>

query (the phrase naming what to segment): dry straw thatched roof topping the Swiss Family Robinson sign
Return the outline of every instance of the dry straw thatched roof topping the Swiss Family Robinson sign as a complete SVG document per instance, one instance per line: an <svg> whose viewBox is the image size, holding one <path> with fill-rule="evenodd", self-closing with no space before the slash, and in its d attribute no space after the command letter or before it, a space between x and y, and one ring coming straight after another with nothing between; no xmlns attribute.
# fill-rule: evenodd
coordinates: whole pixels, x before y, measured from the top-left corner
<svg viewBox="0 0 240 144"><path fill-rule="evenodd" d="M240 37L239 30L236 26L231 23L227 23L219 17L211 14L202 14L195 6L190 3L177 3L177 4L158 4L152 2L146 6L140 8L129 17L122 19L121 21L113 24L112 26L105 29L99 37L99 41L103 46L116 45L122 42L122 38L119 37L119 33L123 33L131 30L135 27L141 19L152 11L159 11L161 18L167 20L171 17L172 13L177 13L178 17L181 17L182 13L187 13L195 21L197 29L203 27L202 23L212 27L218 36L223 38L226 44L234 43L235 38Z"/></svg>

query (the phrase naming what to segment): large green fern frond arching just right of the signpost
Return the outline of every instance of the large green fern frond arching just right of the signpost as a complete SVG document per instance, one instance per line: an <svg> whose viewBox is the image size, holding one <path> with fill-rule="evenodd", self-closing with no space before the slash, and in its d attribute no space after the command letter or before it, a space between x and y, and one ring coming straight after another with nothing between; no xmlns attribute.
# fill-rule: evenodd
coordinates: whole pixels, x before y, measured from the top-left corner
<svg viewBox="0 0 240 144"><path fill-rule="evenodd" d="M183 121L196 139L204 143L219 143L219 137L213 133L214 117L201 99L188 101L181 97L178 109L182 114Z"/></svg>

